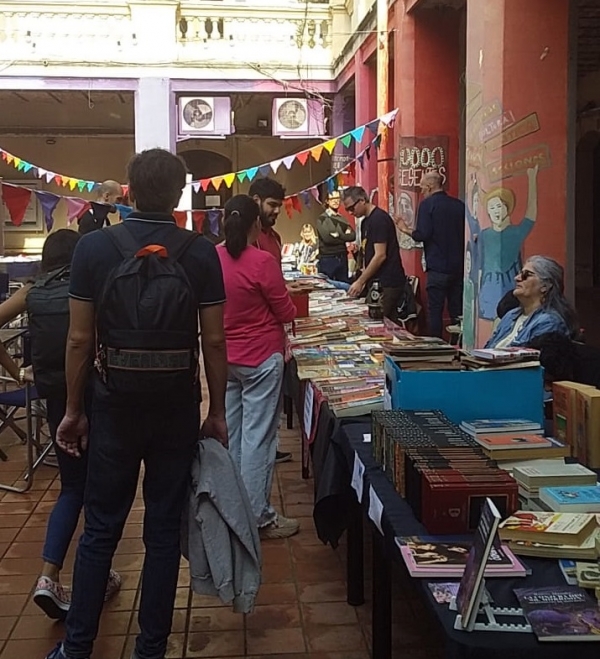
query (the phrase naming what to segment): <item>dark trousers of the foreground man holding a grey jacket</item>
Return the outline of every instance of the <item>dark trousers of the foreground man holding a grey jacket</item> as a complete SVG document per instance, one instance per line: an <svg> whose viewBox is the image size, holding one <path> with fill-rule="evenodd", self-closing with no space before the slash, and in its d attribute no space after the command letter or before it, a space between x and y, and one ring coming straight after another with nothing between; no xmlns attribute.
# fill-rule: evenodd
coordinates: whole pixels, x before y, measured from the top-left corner
<svg viewBox="0 0 600 659"><path fill-rule="evenodd" d="M85 528L77 549L65 654L92 654L113 555L144 463L144 558L139 659L163 659L171 633L180 526L199 434L199 405L96 407L92 414Z"/></svg>

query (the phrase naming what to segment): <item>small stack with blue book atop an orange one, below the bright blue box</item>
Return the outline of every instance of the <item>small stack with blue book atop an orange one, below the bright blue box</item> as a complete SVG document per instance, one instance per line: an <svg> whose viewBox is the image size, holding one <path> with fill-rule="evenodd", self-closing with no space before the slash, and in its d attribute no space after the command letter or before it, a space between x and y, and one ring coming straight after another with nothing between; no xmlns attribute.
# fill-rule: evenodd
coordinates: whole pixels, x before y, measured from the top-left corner
<svg viewBox="0 0 600 659"><path fill-rule="evenodd" d="M476 419L463 421L462 430L471 435L493 460L564 458L569 449L552 437L544 437L542 426L528 419Z"/></svg>

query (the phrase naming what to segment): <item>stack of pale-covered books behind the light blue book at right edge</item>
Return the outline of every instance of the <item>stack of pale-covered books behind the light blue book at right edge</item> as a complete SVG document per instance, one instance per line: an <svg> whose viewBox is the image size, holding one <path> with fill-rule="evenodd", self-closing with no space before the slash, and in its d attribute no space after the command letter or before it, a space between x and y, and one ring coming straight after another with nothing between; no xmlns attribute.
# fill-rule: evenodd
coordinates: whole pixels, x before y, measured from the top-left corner
<svg viewBox="0 0 600 659"><path fill-rule="evenodd" d="M522 464L512 471L513 478L519 486L519 503L524 510L539 510L542 512L569 512L553 508L544 498L540 497L543 490L561 491L571 486L595 486L596 474L587 467L577 463L566 464L562 460L532 461L531 465ZM599 488L600 491L600 488ZM570 500L576 497L571 497ZM571 512L600 512L598 510L574 510Z"/></svg>

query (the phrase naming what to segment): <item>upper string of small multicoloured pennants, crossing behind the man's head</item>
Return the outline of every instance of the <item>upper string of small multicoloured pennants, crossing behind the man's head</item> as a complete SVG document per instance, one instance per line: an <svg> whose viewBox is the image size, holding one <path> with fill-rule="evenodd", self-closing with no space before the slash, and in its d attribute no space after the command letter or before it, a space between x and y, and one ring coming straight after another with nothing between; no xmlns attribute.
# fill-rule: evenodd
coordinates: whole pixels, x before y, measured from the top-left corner
<svg viewBox="0 0 600 659"><path fill-rule="evenodd" d="M331 155L338 142L345 147L349 147L352 144L352 141L356 142L357 145L360 145L367 130L375 136L379 135L383 128L390 128L393 125L397 113L398 109L392 110L391 112L370 121L368 124L358 126L343 135L333 137L322 144L317 144L314 147L304 149L298 153L285 156L284 158L277 158L269 163L249 167L248 169L243 169L239 172L229 172L228 174L213 176L208 179L192 181L194 190L197 192L202 188L202 190L206 192L211 185L215 190L218 190L223 183L225 183L228 188L231 188L236 178L240 183L243 183L246 179L249 182L252 182L259 173L261 176L270 176L276 174L281 165L289 170L295 162L304 166L311 157L315 162L319 162L323 155L323 151L326 151ZM56 183L58 186L67 188L71 192L74 192L75 190L78 192L92 192L95 188L100 186L100 183L96 181L88 181L86 179L67 176L65 174L58 174L43 167L39 167L38 165L34 165L23 158L19 158L2 148L0 148L0 157L4 162L12 165L19 172L31 173L39 179L45 179L46 183Z"/></svg>

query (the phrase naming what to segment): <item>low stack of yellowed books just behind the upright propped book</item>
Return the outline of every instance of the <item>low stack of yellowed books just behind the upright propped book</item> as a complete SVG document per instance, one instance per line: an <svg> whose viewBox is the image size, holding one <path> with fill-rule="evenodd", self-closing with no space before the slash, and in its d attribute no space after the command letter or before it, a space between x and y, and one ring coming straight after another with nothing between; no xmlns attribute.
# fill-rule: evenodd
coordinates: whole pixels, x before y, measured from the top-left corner
<svg viewBox="0 0 600 659"><path fill-rule="evenodd" d="M520 510L500 525L500 538L517 555L595 560L596 515Z"/></svg>

